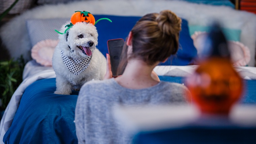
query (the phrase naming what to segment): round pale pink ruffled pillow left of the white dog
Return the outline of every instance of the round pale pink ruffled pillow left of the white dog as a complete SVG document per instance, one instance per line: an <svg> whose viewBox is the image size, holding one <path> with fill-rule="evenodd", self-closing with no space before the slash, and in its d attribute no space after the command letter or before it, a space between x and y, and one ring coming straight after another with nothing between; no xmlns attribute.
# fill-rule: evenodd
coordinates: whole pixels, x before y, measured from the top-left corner
<svg viewBox="0 0 256 144"><path fill-rule="evenodd" d="M43 40L31 49L31 57L42 66L52 66L52 58L59 40Z"/></svg>

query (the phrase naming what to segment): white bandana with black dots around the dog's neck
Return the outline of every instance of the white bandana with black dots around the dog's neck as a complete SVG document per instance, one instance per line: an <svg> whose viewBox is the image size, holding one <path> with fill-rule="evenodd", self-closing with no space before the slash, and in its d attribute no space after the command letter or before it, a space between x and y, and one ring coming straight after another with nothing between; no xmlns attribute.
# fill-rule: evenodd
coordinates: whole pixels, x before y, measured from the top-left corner
<svg viewBox="0 0 256 144"><path fill-rule="evenodd" d="M89 58L83 59L70 58L65 56L63 51L61 51L61 57L68 70L75 75L78 75L87 69L92 59L92 55Z"/></svg>

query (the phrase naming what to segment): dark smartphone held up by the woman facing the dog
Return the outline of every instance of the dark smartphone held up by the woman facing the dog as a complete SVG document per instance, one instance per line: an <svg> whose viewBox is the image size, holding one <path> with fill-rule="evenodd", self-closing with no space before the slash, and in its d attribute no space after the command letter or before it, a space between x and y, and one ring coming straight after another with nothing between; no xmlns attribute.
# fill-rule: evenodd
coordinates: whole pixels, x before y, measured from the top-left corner
<svg viewBox="0 0 256 144"><path fill-rule="evenodd" d="M124 39L112 39L107 41L108 54L110 56L111 70L113 77L117 77L117 68L121 60L121 53L124 46Z"/></svg>

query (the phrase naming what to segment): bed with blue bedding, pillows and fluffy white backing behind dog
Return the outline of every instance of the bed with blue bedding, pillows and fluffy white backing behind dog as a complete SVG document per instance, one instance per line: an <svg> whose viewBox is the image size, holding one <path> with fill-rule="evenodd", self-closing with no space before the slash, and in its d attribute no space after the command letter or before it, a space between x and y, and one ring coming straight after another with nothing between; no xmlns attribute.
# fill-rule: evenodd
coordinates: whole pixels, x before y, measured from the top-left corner
<svg viewBox="0 0 256 144"><path fill-rule="evenodd" d="M58 41L54 29L59 30L74 11L86 10L96 20L106 17L113 21L101 21L96 25L99 33L97 48L105 55L107 40L126 39L129 30L142 15L163 9L174 11L183 21L181 48L177 55L155 68L160 79L183 83L184 77L193 73L197 67L193 65L193 59L198 56L194 43L199 36L197 34L193 39L191 36L195 31L207 32L212 20L216 19L222 24L227 39L239 42L239 46L243 47L243 56L250 54L246 59L236 57L243 59L243 62L237 63L235 68L246 84L239 103L255 104L255 14L234 10L229 5L172 0L94 0L42 5L1 27L3 43L9 51L19 52L11 53L11 56L15 58L23 54L29 60L23 72L23 82L14 92L1 119L1 143L77 143L74 109L78 92L73 91L71 95L54 94L56 75L51 67L51 54ZM40 54L45 54L45 57Z"/></svg>

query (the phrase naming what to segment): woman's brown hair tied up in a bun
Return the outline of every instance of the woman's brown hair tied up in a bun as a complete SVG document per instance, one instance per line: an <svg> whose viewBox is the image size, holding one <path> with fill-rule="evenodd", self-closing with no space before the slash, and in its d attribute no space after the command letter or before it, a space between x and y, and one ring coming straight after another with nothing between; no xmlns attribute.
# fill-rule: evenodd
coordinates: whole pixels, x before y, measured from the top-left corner
<svg viewBox="0 0 256 144"><path fill-rule="evenodd" d="M141 17L131 30L132 53L127 55L127 46L123 48L119 74L123 73L129 59L141 59L148 65L153 65L176 54L180 30L181 18L170 10Z"/></svg>

